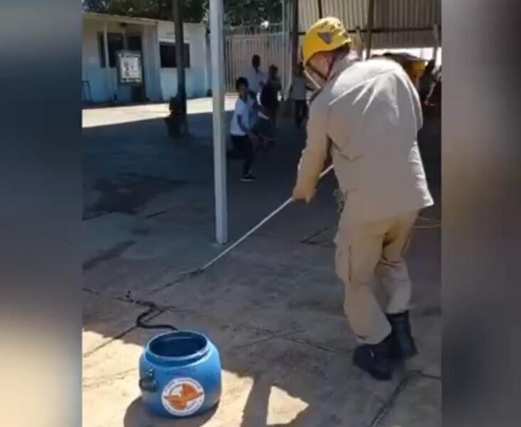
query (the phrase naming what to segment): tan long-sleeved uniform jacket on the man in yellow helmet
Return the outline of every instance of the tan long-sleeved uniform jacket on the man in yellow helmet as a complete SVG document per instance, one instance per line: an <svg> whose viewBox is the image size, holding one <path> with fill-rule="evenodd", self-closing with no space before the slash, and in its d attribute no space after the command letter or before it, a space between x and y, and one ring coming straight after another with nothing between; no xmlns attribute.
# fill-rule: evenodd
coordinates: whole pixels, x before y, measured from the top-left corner
<svg viewBox="0 0 521 427"><path fill-rule="evenodd" d="M422 121L417 90L399 64L338 61L311 102L294 197L311 200L331 150L350 223L431 206L417 144Z"/></svg>

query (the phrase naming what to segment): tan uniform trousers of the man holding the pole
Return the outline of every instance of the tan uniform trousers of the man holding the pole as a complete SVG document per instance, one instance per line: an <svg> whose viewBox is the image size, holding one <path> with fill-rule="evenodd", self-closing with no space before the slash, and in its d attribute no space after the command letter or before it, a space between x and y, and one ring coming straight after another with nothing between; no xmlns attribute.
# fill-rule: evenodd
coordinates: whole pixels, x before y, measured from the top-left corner
<svg viewBox="0 0 521 427"><path fill-rule="evenodd" d="M391 332L385 313L409 309L411 281L402 257L417 214L356 225L340 220L335 238L336 273L345 285L345 315L360 342L381 342ZM371 287L374 275L388 298L383 309Z"/></svg>

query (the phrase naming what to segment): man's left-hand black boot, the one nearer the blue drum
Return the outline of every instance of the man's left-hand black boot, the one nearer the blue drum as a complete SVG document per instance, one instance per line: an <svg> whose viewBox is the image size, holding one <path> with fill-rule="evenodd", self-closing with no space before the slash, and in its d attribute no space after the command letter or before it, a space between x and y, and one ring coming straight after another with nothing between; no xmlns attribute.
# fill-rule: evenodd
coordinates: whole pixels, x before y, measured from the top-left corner
<svg viewBox="0 0 521 427"><path fill-rule="evenodd" d="M374 379L392 379L392 364L389 357L390 336L378 344L362 344L355 348L353 364L366 371Z"/></svg>

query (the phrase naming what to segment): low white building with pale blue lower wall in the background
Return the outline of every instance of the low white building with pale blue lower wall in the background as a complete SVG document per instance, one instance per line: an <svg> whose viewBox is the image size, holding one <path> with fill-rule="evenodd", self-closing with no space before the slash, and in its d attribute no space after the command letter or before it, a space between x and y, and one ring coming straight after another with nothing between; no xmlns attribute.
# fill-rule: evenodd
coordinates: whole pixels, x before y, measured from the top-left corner
<svg viewBox="0 0 521 427"><path fill-rule="evenodd" d="M202 23L185 23L183 30L186 94L203 97L211 85L206 28ZM82 48L82 93L86 102L161 102L177 93L173 22L85 12ZM142 85L119 84L117 51L121 50L141 52Z"/></svg>

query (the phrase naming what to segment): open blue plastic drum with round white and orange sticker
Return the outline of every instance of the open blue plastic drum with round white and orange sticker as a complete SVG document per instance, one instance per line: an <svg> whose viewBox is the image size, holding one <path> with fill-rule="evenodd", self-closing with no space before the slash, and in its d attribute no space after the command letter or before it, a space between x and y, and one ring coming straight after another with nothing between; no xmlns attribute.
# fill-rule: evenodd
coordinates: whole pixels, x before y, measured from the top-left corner
<svg viewBox="0 0 521 427"><path fill-rule="evenodd" d="M221 394L219 352L198 332L153 337L139 359L144 405L159 416L185 418L213 408Z"/></svg>

